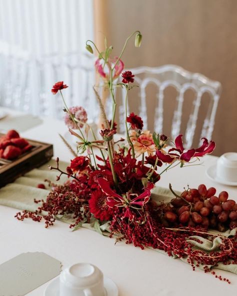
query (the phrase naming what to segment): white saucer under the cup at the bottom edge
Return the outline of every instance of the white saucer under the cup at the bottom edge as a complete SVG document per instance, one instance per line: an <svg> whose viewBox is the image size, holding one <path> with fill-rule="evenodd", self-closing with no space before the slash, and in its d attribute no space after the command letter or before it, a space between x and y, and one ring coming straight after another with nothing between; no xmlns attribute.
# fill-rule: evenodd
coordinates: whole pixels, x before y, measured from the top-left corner
<svg viewBox="0 0 237 296"><path fill-rule="evenodd" d="M116 284L108 277L104 276L103 284L106 296L118 296ZM53 279L44 291L44 296L59 296L59 276Z"/></svg>

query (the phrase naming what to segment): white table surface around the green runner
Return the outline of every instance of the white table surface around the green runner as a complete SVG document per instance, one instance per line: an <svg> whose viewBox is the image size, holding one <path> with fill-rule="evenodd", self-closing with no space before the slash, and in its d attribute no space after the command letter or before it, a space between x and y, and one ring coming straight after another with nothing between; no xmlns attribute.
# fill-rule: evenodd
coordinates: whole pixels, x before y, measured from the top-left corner
<svg viewBox="0 0 237 296"><path fill-rule="evenodd" d="M1 122L1 121L0 121ZM16 126L17 129L17 126ZM62 160L71 158L64 147L58 132L66 132L64 123L45 118L43 123L21 133L23 137L50 142L54 145L54 156ZM205 156L202 165L175 167L163 173L158 185L182 190L186 184L196 187L200 183L214 186L217 192L226 190L230 198L237 199L237 187L214 183L205 175L205 169L217 157ZM235 295L237 276L230 272L218 271L231 284L215 279L190 265L172 259L154 250L141 250L123 242L114 245L114 239L104 237L88 229L72 232L68 224L56 221L47 229L43 222L26 219L20 222L14 218L16 209L0 205L0 263L22 253L42 251L60 260L63 266L76 262L91 262L110 277L118 286L119 296L200 296ZM40 296L48 283L36 288L27 295Z"/></svg>

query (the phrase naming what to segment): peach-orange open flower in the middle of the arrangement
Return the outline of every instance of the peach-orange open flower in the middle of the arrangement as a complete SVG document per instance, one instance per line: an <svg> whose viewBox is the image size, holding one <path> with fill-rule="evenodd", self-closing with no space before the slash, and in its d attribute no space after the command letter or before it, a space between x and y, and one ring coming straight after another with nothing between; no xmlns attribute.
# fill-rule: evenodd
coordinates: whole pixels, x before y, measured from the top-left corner
<svg viewBox="0 0 237 296"><path fill-rule="evenodd" d="M136 157L145 152L148 155L152 155L156 150L149 130L144 130L139 136L136 135L135 130L131 130L130 139L136 152Z"/></svg>

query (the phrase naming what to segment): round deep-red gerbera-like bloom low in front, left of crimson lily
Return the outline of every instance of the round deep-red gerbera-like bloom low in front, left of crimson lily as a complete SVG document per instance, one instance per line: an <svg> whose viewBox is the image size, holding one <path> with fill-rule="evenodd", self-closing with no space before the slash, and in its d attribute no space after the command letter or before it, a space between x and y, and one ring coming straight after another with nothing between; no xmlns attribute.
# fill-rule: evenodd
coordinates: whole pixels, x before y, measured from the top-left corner
<svg viewBox="0 0 237 296"><path fill-rule="evenodd" d="M107 205L107 195L101 190L95 190L91 193L89 210L96 219L101 221L109 220L113 214L112 208Z"/></svg>

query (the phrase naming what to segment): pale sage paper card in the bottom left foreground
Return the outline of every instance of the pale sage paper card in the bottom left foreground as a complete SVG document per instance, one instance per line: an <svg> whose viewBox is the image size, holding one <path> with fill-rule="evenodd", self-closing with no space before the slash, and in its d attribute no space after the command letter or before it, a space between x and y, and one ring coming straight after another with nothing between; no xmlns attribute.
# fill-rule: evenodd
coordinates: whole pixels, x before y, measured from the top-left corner
<svg viewBox="0 0 237 296"><path fill-rule="evenodd" d="M23 296L61 271L61 262L43 252L27 252L0 264L0 296Z"/></svg>

